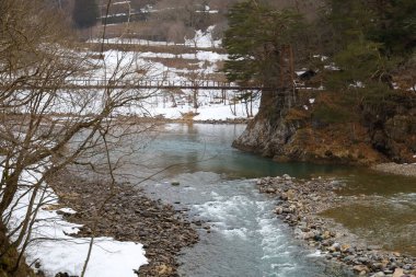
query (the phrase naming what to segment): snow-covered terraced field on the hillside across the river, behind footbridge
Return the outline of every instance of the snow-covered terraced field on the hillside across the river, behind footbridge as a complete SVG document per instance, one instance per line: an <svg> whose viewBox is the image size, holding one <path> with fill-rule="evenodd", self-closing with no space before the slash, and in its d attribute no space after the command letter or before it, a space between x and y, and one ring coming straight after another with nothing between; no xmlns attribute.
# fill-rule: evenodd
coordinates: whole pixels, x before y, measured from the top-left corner
<svg viewBox="0 0 416 277"><path fill-rule="evenodd" d="M212 81L212 74L218 74L218 62L227 60L228 56L212 50L196 50L193 47L208 48L212 46L220 46L220 41L213 41L211 31L213 26L209 27L207 32L197 31L195 37L186 39L185 46L189 47L189 54L175 55L172 53L134 53L134 51L117 51L109 50L104 53L104 60L92 60L92 64L99 68L92 79L109 79L117 68L134 67L132 71L139 72L125 77L125 80L135 81L166 81L166 82L195 82L200 83L207 80ZM91 43L99 43L100 39L90 41ZM160 42L136 42L131 39L113 38L108 43L116 44L148 44L148 45L170 45L169 43ZM93 55L92 55L93 56ZM166 66L169 62L163 60L182 60L188 62L188 68L177 68L174 66ZM194 91L192 90L159 90L159 91L145 91L142 94L149 95L148 99L141 103L126 105L117 111L122 115L138 115L147 117L164 117L169 119L180 119L184 114L194 113L196 116L194 120L227 120L235 118L246 118L254 116L258 112L259 97L255 97L253 103L245 103L239 100L241 92L227 91L224 101L220 90L199 90L197 92L197 106L194 108L193 101L195 100ZM249 114L247 114L247 111Z"/></svg>

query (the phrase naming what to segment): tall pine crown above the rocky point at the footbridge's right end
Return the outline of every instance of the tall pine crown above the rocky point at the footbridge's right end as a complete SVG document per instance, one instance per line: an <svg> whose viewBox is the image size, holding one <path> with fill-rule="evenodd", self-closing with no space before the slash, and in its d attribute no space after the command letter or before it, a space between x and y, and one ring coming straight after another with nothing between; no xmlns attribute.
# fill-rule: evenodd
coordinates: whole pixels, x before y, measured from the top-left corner
<svg viewBox="0 0 416 277"><path fill-rule="evenodd" d="M230 81L279 85L281 47L294 43L302 18L293 10L275 10L249 0L229 12L223 45L229 54L224 72Z"/></svg>

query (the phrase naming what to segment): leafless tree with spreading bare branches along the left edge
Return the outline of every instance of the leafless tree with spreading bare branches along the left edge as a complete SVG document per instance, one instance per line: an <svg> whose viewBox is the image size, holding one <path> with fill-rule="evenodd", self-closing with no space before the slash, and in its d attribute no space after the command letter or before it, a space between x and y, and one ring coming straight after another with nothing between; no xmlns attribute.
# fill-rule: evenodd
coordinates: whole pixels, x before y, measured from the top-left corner
<svg viewBox="0 0 416 277"><path fill-rule="evenodd" d="M0 13L0 229L25 211L21 222L9 224L11 243L0 246L0 257L19 246L16 269L47 199L45 180L69 164L85 164L115 183L122 152L111 150L138 131L118 117L123 108L140 108L151 92L131 89L142 72L134 54L92 59L76 50L77 39L46 1L2 0ZM28 197L25 207L19 206L22 197Z"/></svg>

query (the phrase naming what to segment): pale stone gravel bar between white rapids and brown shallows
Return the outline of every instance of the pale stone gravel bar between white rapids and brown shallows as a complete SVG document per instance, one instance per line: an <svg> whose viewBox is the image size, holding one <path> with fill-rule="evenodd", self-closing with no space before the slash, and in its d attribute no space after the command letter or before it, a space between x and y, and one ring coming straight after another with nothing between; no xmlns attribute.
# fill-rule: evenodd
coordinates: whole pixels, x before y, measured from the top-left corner
<svg viewBox="0 0 416 277"><path fill-rule="evenodd" d="M350 267L359 276L416 277L416 258L368 245L355 234L319 213L348 203L335 192L333 180L296 180L288 175L257 181L261 193L276 199L275 213L308 247L321 251L328 261Z"/></svg>

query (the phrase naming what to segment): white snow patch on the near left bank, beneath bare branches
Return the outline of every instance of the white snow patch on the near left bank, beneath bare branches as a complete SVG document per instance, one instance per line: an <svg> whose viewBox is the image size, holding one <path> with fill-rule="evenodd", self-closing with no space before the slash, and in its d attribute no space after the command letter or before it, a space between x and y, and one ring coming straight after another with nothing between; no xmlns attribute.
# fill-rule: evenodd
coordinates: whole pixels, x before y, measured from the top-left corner
<svg viewBox="0 0 416 277"><path fill-rule="evenodd" d="M2 175L2 169L0 168ZM33 184L41 176L39 173L24 172L21 184L28 185L18 192L9 221L9 230L18 227L26 215L27 204L32 192L30 184ZM34 264L41 263L41 268L47 277L55 276L57 273L68 273L69 275L80 275L88 249L90 238L72 238L70 233L77 233L80 224L70 223L63 220L51 207L56 205L57 196L47 187L42 187L36 198L36 204L43 204L36 215L36 221L33 226L31 235L32 242L26 249L26 262ZM28 194L26 194L28 192ZM41 197L41 195L43 195ZM46 205L47 204L47 205ZM68 208L59 209L62 212L73 213ZM112 238L96 238L92 249L91 259L89 262L85 276L94 277L114 277L114 276L137 276L132 269L138 269L141 265L147 264L142 245L134 242L119 242Z"/></svg>

